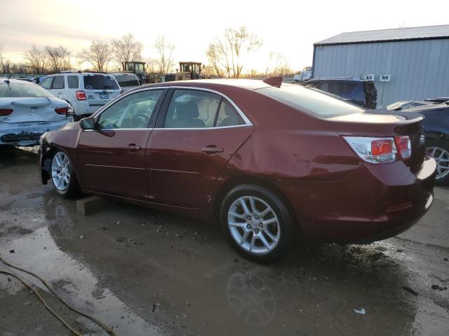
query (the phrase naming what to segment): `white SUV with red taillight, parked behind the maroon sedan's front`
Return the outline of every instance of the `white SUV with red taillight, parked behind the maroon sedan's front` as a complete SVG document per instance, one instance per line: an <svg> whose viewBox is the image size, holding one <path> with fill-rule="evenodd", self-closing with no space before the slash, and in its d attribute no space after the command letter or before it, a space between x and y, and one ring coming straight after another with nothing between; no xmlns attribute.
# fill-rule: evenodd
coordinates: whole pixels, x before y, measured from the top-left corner
<svg viewBox="0 0 449 336"><path fill-rule="evenodd" d="M39 85L69 102L74 120L91 116L121 93L115 78L107 73L63 71L46 76Z"/></svg>

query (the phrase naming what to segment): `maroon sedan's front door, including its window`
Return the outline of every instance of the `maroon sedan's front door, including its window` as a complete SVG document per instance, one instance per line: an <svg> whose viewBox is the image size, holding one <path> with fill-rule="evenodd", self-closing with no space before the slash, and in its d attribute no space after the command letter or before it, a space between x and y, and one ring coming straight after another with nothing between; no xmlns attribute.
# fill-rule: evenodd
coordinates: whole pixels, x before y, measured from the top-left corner
<svg viewBox="0 0 449 336"><path fill-rule="evenodd" d="M147 199L145 150L165 92L127 94L95 117L95 130L81 132L78 158L83 188Z"/></svg>

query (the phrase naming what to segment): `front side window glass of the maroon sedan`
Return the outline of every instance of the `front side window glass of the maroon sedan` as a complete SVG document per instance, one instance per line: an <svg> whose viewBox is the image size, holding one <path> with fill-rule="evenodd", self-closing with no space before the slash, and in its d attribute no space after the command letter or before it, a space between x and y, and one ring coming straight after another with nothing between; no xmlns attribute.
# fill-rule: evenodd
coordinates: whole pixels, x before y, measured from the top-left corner
<svg viewBox="0 0 449 336"><path fill-rule="evenodd" d="M147 128L162 90L147 90L123 97L100 114L100 129Z"/></svg>

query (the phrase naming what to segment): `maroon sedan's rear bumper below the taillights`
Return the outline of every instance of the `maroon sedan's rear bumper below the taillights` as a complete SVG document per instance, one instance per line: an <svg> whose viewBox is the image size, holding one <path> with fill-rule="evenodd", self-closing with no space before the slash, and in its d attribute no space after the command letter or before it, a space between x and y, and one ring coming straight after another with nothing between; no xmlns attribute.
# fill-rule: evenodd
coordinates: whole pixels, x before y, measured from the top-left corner
<svg viewBox="0 0 449 336"><path fill-rule="evenodd" d="M298 182L301 191L290 187L289 198L304 200L293 204L304 237L370 243L398 235L424 216L433 201L435 174L432 158L417 174L403 162L361 165L340 181Z"/></svg>

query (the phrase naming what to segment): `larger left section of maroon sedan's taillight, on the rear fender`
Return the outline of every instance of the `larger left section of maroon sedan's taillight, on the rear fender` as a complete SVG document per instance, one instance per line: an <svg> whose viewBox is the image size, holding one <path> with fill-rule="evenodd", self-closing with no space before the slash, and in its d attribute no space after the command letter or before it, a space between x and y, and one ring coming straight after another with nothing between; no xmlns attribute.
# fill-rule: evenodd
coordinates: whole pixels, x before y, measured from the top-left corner
<svg viewBox="0 0 449 336"><path fill-rule="evenodd" d="M366 162L389 163L396 161L393 138L343 137L356 154Z"/></svg>

